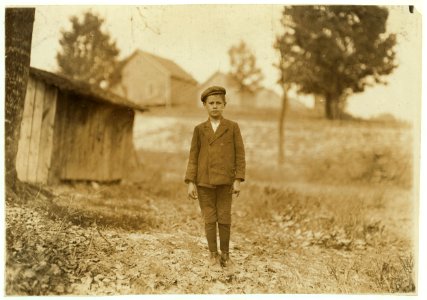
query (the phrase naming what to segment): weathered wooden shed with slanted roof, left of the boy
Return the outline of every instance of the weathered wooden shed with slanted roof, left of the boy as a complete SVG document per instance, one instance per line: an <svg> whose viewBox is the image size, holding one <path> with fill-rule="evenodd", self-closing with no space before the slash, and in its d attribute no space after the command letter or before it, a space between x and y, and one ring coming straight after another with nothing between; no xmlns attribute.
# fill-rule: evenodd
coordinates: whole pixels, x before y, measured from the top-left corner
<svg viewBox="0 0 427 300"><path fill-rule="evenodd" d="M16 169L21 181L112 182L133 154L134 110L102 89L30 69Z"/></svg>

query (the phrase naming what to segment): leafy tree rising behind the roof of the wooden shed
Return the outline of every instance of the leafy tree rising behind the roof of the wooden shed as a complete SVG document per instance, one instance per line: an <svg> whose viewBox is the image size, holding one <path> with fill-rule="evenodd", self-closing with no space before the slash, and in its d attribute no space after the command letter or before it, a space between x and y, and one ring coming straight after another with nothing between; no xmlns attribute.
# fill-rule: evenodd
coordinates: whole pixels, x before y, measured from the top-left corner
<svg viewBox="0 0 427 300"><path fill-rule="evenodd" d="M104 19L86 12L82 20L70 18L72 28L62 31L61 51L56 59L62 75L108 88L118 64L119 50L101 30Z"/></svg>

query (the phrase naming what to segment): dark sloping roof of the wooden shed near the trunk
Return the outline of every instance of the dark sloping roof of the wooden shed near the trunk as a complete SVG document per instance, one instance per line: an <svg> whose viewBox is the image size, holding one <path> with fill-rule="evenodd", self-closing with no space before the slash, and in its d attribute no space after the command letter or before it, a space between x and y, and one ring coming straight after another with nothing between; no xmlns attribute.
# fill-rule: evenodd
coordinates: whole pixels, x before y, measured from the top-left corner
<svg viewBox="0 0 427 300"><path fill-rule="evenodd" d="M88 96L100 102L107 102L110 104L132 108L140 111L148 109L145 106L132 103L131 101L123 97L120 97L101 88L94 87L86 82L73 80L65 76L37 69L34 67L30 68L30 74L51 85L56 86L60 90L72 92L82 96Z"/></svg>

